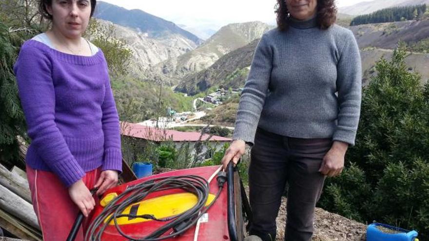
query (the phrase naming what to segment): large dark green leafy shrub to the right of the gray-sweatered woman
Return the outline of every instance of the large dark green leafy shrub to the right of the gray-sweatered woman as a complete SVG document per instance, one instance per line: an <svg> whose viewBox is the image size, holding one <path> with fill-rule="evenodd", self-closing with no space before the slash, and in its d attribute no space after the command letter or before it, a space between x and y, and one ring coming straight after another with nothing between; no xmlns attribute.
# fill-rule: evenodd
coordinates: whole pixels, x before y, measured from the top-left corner
<svg viewBox="0 0 429 241"><path fill-rule="evenodd" d="M363 222L429 237L429 84L409 72L401 46L363 91L356 146L343 174L328 179L320 206ZM353 164L351 164L353 163Z"/></svg>

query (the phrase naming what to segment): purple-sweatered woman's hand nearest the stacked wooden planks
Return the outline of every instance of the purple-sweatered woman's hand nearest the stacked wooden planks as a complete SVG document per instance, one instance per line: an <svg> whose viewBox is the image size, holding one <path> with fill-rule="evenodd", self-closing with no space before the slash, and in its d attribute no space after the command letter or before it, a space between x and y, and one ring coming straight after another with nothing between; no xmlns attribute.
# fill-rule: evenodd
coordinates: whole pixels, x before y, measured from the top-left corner
<svg viewBox="0 0 429 241"><path fill-rule="evenodd" d="M96 202L82 179L79 179L79 181L69 187L69 195L83 215L88 217L89 213L94 209Z"/></svg>

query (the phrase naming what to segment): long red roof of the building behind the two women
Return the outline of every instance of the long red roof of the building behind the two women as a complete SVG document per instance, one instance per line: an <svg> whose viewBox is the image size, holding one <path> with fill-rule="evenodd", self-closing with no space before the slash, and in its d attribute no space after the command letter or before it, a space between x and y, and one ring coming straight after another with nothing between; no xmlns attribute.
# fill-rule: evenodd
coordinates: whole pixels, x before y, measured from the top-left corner
<svg viewBox="0 0 429 241"><path fill-rule="evenodd" d="M129 122L120 123L121 135L131 136L151 141L199 141L201 133L199 132L184 132L177 130L165 130L155 127L148 127ZM204 134L201 141L207 140L210 135ZM231 138L214 135L209 141L231 141Z"/></svg>

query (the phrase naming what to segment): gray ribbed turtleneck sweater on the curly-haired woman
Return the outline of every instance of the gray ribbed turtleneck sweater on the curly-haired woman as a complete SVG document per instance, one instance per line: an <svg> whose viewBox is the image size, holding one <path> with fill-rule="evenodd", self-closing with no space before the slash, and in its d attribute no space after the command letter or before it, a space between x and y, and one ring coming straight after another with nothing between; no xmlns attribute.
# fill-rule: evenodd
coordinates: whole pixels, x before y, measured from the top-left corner
<svg viewBox="0 0 429 241"><path fill-rule="evenodd" d="M354 145L361 61L352 32L316 20L290 21L261 38L241 94L233 139L254 142L256 128Z"/></svg>

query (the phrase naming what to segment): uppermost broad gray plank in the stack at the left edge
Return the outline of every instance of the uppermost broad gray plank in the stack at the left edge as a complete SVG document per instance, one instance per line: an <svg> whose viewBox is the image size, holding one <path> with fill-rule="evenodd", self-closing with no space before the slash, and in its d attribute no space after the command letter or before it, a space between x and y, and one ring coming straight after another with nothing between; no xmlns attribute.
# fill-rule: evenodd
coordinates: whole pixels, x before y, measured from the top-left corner
<svg viewBox="0 0 429 241"><path fill-rule="evenodd" d="M0 185L6 187L28 203L32 203L28 181L10 172L0 164Z"/></svg>

